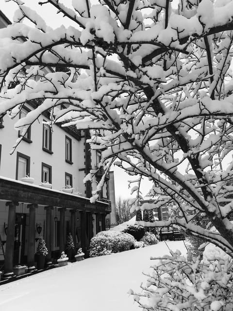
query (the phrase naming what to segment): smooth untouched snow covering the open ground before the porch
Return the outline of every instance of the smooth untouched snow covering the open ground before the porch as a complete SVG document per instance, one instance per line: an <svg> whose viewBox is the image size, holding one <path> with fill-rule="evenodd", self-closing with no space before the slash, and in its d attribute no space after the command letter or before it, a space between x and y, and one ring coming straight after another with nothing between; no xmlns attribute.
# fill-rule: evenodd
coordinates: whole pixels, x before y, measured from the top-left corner
<svg viewBox="0 0 233 311"><path fill-rule="evenodd" d="M169 242L186 254L183 241ZM55 268L0 286L0 311L141 311L127 294L140 290L154 260L169 251L165 242Z"/></svg>

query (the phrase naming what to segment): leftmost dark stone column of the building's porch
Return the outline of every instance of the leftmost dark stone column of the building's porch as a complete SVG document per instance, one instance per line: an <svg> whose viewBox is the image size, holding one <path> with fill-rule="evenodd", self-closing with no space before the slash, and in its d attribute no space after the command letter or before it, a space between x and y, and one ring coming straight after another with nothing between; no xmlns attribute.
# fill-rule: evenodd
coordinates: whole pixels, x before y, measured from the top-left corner
<svg viewBox="0 0 233 311"><path fill-rule="evenodd" d="M9 210L8 210L7 238L6 238L6 250L4 260L4 277L11 277L13 276L16 207L18 206L18 202L6 202L6 206L9 206Z"/></svg>

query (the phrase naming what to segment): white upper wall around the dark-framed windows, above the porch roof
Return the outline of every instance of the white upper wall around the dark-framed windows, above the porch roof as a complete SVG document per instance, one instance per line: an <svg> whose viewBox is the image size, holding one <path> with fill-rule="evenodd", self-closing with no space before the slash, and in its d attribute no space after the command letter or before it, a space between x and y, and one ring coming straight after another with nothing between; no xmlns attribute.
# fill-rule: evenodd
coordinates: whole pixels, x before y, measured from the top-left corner
<svg viewBox="0 0 233 311"><path fill-rule="evenodd" d="M79 172L79 169L84 167L84 140L78 141L68 135L63 129L54 125L51 149L53 154L50 155L42 150L43 119L45 117L40 117L39 122L36 121L32 125L31 140L33 142L28 143L22 140L14 154L10 155L12 146L18 138L18 131L14 129L14 123L16 121L12 121L8 116L4 117L4 128L0 129L0 144L2 145L0 176L16 178L17 152L20 152L30 156L30 176L35 179L34 184L39 185L41 182L41 163L44 162L52 167L52 189L61 190L65 186L65 172L67 172L72 174L73 187L77 187L84 196L84 176L83 172ZM66 136L72 139L72 165L65 161Z"/></svg>

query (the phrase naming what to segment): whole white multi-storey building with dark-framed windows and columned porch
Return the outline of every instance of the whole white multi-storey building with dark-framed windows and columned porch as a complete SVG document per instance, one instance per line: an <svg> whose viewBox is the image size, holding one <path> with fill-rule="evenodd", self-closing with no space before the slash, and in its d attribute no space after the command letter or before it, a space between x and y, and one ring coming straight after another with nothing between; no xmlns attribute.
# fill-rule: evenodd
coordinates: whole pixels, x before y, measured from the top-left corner
<svg viewBox="0 0 233 311"><path fill-rule="evenodd" d="M0 11L0 28L9 23ZM37 105L36 101L24 104L17 118ZM49 250L48 262L65 250L69 232L77 247L87 252L90 239L105 230L105 217L111 213L109 198L115 207L113 172L106 176L96 203L89 200L94 185L83 184L85 174L91 168L98 169L101 159L100 152L90 151L88 130L61 124L51 129L43 123L49 121L44 113L10 155L21 135L14 129L16 119L0 119L0 236L5 251L0 261L5 276L12 276L14 265L34 265L40 236ZM97 175L100 179L101 170ZM24 179L26 176L31 179ZM32 178L33 184L29 183Z"/></svg>

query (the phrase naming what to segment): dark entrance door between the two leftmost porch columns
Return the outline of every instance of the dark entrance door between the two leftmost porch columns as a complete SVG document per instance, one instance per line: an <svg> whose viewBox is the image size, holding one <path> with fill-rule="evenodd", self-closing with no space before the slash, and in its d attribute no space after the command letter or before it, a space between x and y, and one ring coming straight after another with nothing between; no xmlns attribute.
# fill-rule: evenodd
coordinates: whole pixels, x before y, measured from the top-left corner
<svg viewBox="0 0 233 311"><path fill-rule="evenodd" d="M14 265L23 263L25 247L26 214L16 213Z"/></svg>

